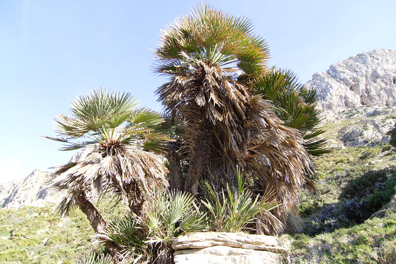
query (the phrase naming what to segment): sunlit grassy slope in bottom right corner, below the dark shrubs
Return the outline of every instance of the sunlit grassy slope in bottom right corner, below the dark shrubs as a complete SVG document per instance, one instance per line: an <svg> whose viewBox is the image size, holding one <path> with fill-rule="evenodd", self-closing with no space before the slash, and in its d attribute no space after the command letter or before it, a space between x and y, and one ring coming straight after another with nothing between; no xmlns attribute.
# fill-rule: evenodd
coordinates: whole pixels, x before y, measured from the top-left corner
<svg viewBox="0 0 396 264"><path fill-rule="evenodd" d="M294 264L396 263L396 213L313 238L301 234L291 238Z"/></svg>

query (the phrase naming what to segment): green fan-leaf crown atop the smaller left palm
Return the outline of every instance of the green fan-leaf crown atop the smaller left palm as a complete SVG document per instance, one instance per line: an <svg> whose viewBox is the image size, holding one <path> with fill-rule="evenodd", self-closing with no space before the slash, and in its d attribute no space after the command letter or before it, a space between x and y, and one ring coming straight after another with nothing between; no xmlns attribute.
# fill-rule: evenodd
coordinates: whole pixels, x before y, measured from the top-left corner
<svg viewBox="0 0 396 264"><path fill-rule="evenodd" d="M154 137L158 141L169 140L153 131L153 127L162 122L160 114L146 107L137 108L137 104L129 93L94 89L74 99L71 115L60 114L55 118L59 136L46 138L65 143L63 151L111 140L128 145L139 145Z"/></svg>

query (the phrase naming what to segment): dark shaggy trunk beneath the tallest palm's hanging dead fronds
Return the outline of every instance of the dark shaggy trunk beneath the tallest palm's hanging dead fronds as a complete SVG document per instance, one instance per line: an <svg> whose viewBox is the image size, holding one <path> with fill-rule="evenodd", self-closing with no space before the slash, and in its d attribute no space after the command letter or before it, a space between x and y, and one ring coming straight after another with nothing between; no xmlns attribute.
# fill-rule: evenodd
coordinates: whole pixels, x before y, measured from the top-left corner
<svg viewBox="0 0 396 264"><path fill-rule="evenodd" d="M211 138L210 124L207 120L200 125L195 138L195 149L191 150L190 168L187 173L184 190L197 196L198 181L206 169L207 160L210 158L209 144Z"/></svg>

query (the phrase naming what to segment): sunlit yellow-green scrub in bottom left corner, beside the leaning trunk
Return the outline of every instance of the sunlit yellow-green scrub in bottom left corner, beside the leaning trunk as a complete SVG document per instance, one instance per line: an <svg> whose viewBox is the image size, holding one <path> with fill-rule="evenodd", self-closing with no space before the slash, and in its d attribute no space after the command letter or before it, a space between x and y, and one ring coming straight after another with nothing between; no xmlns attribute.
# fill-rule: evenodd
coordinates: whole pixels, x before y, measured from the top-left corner
<svg viewBox="0 0 396 264"><path fill-rule="evenodd" d="M59 218L48 207L0 209L0 264L75 263L93 234L80 211Z"/></svg>

